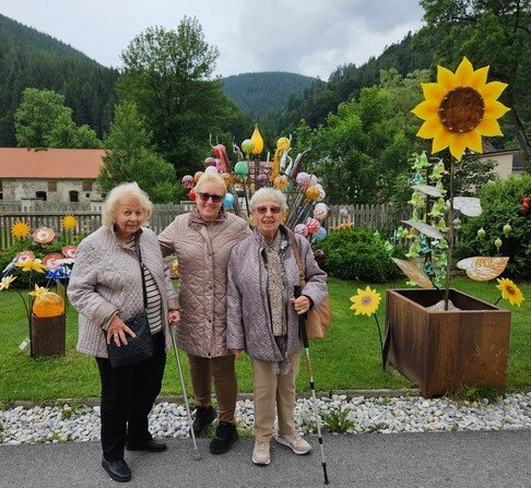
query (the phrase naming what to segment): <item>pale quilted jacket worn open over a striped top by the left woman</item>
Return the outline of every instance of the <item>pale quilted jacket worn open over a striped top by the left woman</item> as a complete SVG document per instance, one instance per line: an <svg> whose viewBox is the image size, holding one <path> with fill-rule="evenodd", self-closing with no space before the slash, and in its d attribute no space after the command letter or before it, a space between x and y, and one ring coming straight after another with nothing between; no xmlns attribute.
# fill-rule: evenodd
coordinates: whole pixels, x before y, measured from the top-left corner
<svg viewBox="0 0 531 488"><path fill-rule="evenodd" d="M167 348L172 344L167 311L168 307L177 307L177 295L172 286L169 272L164 267L161 248L153 230L142 228L140 250L142 261L161 293ZM99 227L83 239L78 248L68 296L80 312L78 350L91 356L107 357L102 328L116 312L127 320L144 307L142 277L135 252L126 249L113 230Z"/></svg>

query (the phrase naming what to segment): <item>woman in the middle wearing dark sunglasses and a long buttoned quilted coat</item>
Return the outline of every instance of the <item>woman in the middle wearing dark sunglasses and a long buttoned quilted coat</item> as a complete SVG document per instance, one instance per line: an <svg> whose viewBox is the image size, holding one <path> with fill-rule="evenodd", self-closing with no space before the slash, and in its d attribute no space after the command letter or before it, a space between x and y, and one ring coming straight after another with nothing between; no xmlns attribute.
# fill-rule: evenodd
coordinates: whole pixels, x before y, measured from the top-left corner
<svg viewBox="0 0 531 488"><path fill-rule="evenodd" d="M190 365L197 405L192 428L199 436L217 416L212 406L213 380L220 421L210 451L221 454L238 439L234 355L226 347L227 264L231 249L251 230L246 221L225 212L226 187L221 176L202 175L193 190L197 207L178 215L158 242L164 255L175 252L179 262L177 342Z"/></svg>

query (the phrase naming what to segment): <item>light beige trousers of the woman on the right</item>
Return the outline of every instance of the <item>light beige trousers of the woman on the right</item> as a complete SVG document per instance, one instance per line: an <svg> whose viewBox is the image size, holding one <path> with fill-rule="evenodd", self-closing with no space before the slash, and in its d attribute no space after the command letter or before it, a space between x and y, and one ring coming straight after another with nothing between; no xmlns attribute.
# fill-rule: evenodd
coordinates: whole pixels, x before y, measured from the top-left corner
<svg viewBox="0 0 531 488"><path fill-rule="evenodd" d="M279 433L295 432L295 380L300 365L300 352L291 356L292 373L273 374L271 362L252 359L255 394L255 438L269 442L273 437L274 409L279 417Z"/></svg>

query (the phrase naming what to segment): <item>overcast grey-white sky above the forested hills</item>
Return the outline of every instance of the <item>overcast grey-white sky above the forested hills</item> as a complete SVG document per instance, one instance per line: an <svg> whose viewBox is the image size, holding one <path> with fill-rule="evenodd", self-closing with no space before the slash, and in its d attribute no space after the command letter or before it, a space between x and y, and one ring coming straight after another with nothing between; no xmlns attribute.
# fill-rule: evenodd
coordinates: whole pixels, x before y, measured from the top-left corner
<svg viewBox="0 0 531 488"><path fill-rule="evenodd" d="M328 80L362 64L422 25L418 0L0 0L0 13L49 34L102 64L146 27L196 16L217 46L215 74L290 71Z"/></svg>

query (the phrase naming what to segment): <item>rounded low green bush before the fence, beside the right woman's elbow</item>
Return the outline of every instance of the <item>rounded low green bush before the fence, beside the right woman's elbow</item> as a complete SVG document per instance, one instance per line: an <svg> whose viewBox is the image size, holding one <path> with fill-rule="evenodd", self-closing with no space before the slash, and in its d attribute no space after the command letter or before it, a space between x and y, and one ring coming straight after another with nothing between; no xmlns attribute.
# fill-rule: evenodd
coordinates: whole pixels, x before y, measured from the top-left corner
<svg viewBox="0 0 531 488"><path fill-rule="evenodd" d="M387 283L400 276L384 241L366 229L332 230L314 248L324 252L321 267L341 279Z"/></svg>

